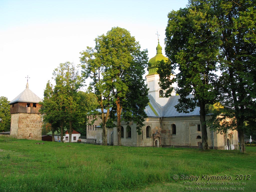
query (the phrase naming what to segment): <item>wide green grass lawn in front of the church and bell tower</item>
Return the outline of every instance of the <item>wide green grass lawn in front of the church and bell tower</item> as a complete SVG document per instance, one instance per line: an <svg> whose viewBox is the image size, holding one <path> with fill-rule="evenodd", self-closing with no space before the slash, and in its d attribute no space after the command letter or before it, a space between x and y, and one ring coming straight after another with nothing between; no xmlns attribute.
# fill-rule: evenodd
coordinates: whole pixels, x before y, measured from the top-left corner
<svg viewBox="0 0 256 192"><path fill-rule="evenodd" d="M256 191L256 147L240 154L36 142L0 137L1 192Z"/></svg>

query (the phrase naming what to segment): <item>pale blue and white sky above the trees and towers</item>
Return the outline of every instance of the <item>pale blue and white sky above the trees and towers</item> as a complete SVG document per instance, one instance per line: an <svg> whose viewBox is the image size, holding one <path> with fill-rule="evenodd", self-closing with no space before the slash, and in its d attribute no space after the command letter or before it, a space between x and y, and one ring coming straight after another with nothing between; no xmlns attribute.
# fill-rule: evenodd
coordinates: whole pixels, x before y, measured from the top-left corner
<svg viewBox="0 0 256 192"><path fill-rule="evenodd" d="M0 96L13 100L29 89L43 98L48 80L59 63L79 64L79 52L94 47L94 39L112 27L130 31L156 54L157 35L163 47L167 14L184 8L188 0L73 0L0 1Z"/></svg>

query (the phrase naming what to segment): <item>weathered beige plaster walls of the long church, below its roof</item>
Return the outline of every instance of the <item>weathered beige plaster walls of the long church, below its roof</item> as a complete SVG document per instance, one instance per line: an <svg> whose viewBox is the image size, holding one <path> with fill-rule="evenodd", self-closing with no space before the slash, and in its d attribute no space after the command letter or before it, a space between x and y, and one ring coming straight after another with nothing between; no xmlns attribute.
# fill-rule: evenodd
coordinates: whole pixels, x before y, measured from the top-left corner
<svg viewBox="0 0 256 192"><path fill-rule="evenodd" d="M137 134L136 124L122 122L123 137L121 145L140 147L188 147L198 148L202 142L201 123L199 116L176 118L146 118L141 135ZM131 136L127 127L131 128ZM117 145L117 128L108 130L108 144L111 143L113 131L113 144ZM96 143L102 143L102 129L96 132ZM208 145L215 149L238 149L237 131L228 131L221 135L207 128ZM87 137L88 138L88 137ZM95 143L95 140L93 140Z"/></svg>

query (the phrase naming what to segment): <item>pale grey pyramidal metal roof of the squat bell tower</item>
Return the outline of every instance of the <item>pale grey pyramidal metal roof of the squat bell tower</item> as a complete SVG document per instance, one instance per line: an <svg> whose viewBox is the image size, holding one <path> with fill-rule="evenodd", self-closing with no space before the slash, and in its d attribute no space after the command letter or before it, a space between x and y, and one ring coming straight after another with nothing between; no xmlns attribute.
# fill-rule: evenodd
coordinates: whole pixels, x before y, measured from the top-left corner
<svg viewBox="0 0 256 192"><path fill-rule="evenodd" d="M39 103L42 101L35 93L33 93L28 88L28 83L26 85L26 89L21 92L17 97L15 97L9 104L15 103L15 102L30 102L30 103Z"/></svg>

